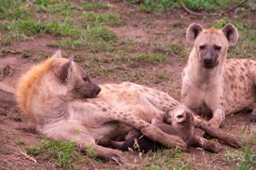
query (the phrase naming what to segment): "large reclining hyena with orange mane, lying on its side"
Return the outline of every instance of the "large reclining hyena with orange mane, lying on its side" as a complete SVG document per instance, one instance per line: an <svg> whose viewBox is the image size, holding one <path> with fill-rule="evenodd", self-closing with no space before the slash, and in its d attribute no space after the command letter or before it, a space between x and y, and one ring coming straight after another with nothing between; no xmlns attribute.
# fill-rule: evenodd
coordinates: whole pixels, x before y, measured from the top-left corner
<svg viewBox="0 0 256 170"><path fill-rule="evenodd" d="M24 74L15 95L22 112L34 119L38 132L74 141L82 151L90 144L104 159L122 161L123 155L95 141L127 134L131 128L166 148L187 147L181 137L150 124L152 118L164 119L166 112L179 104L172 97L133 83L98 86L73 57L61 58L60 51Z"/></svg>

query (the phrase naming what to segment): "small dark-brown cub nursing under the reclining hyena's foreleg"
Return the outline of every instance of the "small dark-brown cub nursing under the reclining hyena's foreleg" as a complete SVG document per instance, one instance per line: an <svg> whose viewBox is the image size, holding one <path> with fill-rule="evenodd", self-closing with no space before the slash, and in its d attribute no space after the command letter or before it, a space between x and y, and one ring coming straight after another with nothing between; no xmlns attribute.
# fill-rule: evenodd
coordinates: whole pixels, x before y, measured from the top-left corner
<svg viewBox="0 0 256 170"><path fill-rule="evenodd" d="M195 128L198 128L202 122L203 120L201 118L195 116L195 114L189 110L185 110L184 112L182 105L175 108L174 111L168 112L168 114L166 114L165 122L162 122L162 120L159 120L158 118L153 118L151 120L151 124L160 128L162 132L181 136L181 138L183 138L183 140L190 146L199 146L212 153L218 153L218 151L222 149L219 142L216 140L206 140L201 136L195 135ZM209 130L207 131L210 132ZM219 128L216 128L213 131L215 131L216 134L220 134L220 136L223 135L223 131ZM104 146L117 148L121 151L128 151L129 148L134 148L139 149L139 151L143 153L147 153L148 151L157 151L160 148L164 148L162 144L143 136L143 134L135 128L128 132L124 141L119 142L103 138L98 140L98 142L104 144Z"/></svg>

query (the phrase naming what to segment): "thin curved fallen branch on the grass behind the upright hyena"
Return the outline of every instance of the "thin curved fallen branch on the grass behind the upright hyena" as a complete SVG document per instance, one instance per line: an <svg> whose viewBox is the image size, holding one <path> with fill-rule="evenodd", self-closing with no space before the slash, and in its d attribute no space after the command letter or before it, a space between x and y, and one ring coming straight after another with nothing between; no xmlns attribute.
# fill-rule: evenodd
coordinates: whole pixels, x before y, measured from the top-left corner
<svg viewBox="0 0 256 170"><path fill-rule="evenodd" d="M232 11L233 9L235 9L236 7L242 5L243 3L246 3L248 0L244 0L241 3L238 3L237 5L234 5L234 7L230 7L230 9L227 9L226 11L223 11L221 13L198 13L195 11L191 11L189 8L187 8L187 6L183 3L183 1L179 1L179 5L181 5L181 7L189 14L191 15L196 15L196 16L222 16L224 13L227 13L229 11Z"/></svg>

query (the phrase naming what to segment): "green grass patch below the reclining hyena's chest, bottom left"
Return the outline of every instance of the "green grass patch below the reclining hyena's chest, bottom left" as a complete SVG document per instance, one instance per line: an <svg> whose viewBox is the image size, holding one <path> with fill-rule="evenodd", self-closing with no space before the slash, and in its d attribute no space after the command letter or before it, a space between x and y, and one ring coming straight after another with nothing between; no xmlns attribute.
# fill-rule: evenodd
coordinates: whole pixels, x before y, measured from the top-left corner
<svg viewBox="0 0 256 170"><path fill-rule="evenodd" d="M33 157L55 161L59 167L65 167L66 169L75 169L75 163L78 161L86 161L86 159L76 151L73 142L48 140L44 138L39 142L38 146L26 146L26 151Z"/></svg>

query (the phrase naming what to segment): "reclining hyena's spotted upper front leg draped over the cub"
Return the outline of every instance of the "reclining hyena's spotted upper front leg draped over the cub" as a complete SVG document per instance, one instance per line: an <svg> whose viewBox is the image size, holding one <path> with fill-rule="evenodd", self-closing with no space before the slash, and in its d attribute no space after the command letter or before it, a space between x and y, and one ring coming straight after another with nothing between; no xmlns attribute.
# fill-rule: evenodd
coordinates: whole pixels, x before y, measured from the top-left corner
<svg viewBox="0 0 256 170"><path fill-rule="evenodd" d="M166 134L156 126L137 118L129 112L112 112L110 117L113 120L126 124L127 126L136 128L146 137L163 144L166 148L178 147L183 151L185 151L187 148L187 144L182 140L181 137Z"/></svg>

